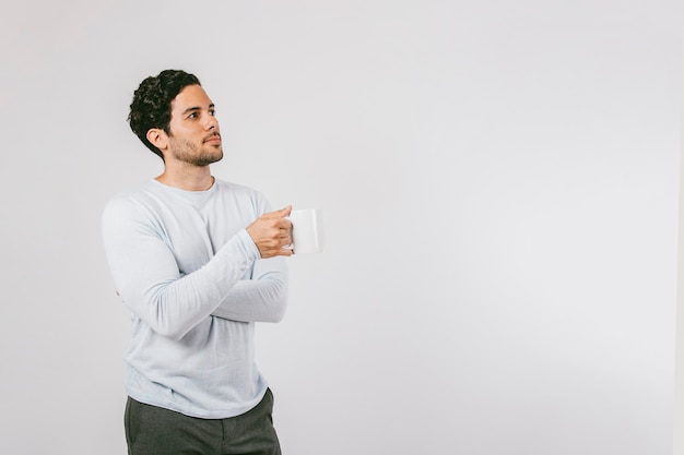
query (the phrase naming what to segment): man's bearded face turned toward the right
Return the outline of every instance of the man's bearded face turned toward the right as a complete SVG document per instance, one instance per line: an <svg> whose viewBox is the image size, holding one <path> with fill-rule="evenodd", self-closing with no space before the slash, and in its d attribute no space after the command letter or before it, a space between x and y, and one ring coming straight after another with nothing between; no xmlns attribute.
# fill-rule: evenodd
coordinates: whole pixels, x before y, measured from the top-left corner
<svg viewBox="0 0 684 455"><path fill-rule="evenodd" d="M176 160L208 166L223 158L214 104L200 85L188 85L172 101L169 154Z"/></svg>

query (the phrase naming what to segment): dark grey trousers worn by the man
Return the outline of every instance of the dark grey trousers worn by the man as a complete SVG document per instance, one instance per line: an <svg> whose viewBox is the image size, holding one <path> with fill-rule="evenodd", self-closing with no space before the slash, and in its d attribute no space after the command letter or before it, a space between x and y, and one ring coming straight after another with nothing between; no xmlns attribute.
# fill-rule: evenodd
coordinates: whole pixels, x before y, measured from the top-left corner
<svg viewBox="0 0 684 455"><path fill-rule="evenodd" d="M228 419L198 419L128 398L129 455L281 455L273 428L273 394Z"/></svg>

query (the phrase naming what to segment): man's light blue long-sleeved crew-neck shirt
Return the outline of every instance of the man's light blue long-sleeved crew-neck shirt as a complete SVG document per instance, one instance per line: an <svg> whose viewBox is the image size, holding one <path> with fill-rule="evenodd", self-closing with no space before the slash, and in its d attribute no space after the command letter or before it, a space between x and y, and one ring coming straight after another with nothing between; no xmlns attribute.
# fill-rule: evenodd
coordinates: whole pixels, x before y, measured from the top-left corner
<svg viewBox="0 0 684 455"><path fill-rule="evenodd" d="M212 419L261 400L255 322L283 318L287 267L260 259L246 227L269 209L259 192L221 180L197 192L151 180L107 203L103 242L132 319L132 398Z"/></svg>

